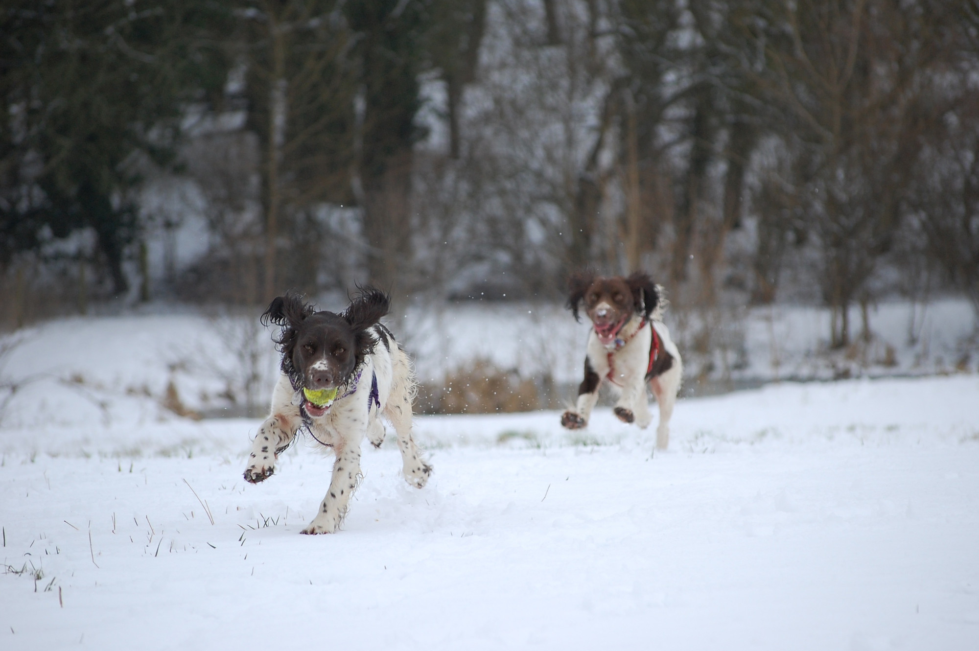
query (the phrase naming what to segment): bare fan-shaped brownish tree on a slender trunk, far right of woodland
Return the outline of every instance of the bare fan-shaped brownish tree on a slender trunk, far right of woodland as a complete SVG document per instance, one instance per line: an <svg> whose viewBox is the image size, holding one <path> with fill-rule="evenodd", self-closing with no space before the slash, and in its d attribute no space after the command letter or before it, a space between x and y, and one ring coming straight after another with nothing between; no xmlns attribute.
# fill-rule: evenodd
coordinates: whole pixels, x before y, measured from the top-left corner
<svg viewBox="0 0 979 651"><path fill-rule="evenodd" d="M900 219L921 135L938 118L924 97L947 55L942 3L762 0L734 16L754 37L741 53L759 95L781 112L801 162L797 195L821 251L830 342L846 346L849 306L862 293ZM752 52L764 53L754 58Z"/></svg>

